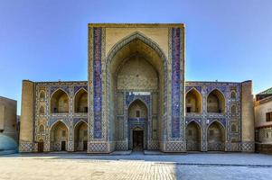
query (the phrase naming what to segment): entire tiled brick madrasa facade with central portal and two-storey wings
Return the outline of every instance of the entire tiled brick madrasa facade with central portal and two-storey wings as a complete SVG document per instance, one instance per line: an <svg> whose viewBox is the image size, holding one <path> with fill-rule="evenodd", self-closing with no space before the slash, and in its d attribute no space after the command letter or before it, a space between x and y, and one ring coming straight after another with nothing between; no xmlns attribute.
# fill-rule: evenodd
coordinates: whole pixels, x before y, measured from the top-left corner
<svg viewBox="0 0 272 180"><path fill-rule="evenodd" d="M88 31L88 81L23 80L20 152L254 151L252 82L185 81L183 23Z"/></svg>

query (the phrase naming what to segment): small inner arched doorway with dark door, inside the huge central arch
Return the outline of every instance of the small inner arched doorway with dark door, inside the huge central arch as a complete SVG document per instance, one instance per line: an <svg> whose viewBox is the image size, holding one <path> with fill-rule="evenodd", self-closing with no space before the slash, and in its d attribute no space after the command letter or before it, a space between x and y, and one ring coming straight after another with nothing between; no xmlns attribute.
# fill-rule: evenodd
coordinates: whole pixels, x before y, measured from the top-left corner
<svg viewBox="0 0 272 180"><path fill-rule="evenodd" d="M129 147L133 150L143 150L147 141L147 107L140 100L135 100L128 107Z"/></svg>

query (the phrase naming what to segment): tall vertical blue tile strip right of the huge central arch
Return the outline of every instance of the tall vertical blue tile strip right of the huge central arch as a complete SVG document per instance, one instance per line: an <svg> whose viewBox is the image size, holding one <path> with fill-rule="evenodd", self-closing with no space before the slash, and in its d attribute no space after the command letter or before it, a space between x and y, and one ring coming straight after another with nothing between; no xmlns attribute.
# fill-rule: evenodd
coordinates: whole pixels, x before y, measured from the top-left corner
<svg viewBox="0 0 272 180"><path fill-rule="evenodd" d="M172 138L180 137L181 29L172 28Z"/></svg>

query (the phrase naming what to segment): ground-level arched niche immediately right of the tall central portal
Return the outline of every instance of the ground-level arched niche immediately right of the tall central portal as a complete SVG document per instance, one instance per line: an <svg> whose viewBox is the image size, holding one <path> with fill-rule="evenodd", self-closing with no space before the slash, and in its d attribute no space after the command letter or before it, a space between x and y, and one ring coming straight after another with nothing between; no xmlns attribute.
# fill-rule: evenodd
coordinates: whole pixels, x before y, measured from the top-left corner
<svg viewBox="0 0 272 180"><path fill-rule="evenodd" d="M201 128L200 125L191 121L186 127L186 148L187 151L200 151L201 150Z"/></svg>

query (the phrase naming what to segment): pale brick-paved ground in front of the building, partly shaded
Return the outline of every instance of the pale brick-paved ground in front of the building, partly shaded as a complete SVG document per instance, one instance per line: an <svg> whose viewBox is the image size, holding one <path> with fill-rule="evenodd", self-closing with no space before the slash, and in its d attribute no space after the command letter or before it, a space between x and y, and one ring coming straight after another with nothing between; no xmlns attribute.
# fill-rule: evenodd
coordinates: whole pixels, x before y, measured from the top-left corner
<svg viewBox="0 0 272 180"><path fill-rule="evenodd" d="M86 156L23 154L0 157L0 179L272 179L272 156L189 154Z"/></svg>

